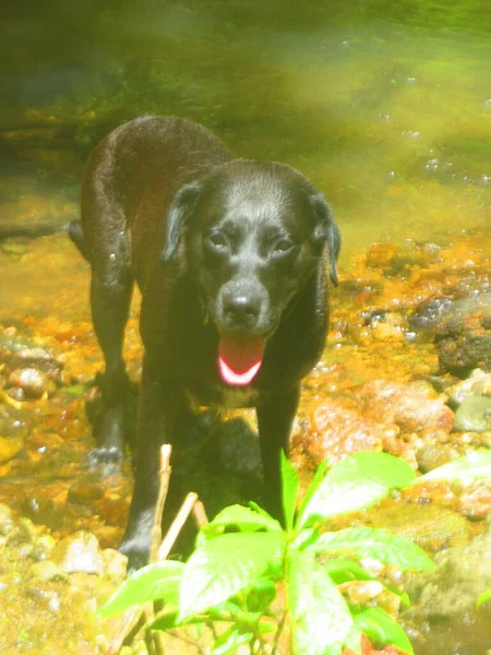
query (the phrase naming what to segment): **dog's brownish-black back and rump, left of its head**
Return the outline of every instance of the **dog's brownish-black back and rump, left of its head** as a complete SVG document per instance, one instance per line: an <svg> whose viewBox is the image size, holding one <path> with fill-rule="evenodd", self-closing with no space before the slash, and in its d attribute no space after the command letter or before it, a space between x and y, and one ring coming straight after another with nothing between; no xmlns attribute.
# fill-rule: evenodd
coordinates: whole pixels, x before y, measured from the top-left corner
<svg viewBox="0 0 491 655"><path fill-rule="evenodd" d="M143 277L142 266L161 248L177 190L231 158L212 132L183 118L143 116L124 123L88 159L81 222L69 224L69 236L94 265L133 259Z"/></svg>

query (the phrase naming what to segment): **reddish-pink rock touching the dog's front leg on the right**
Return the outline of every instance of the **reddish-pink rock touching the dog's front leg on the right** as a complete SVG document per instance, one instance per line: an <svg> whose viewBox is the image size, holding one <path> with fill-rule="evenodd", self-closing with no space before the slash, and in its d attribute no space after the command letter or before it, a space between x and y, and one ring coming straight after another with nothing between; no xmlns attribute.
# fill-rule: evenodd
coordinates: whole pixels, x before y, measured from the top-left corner
<svg viewBox="0 0 491 655"><path fill-rule="evenodd" d="M335 464L360 450L381 451L387 430L391 427L339 403L326 402L314 412L313 430L294 433L291 451L295 456L302 454L314 467L324 460Z"/></svg>

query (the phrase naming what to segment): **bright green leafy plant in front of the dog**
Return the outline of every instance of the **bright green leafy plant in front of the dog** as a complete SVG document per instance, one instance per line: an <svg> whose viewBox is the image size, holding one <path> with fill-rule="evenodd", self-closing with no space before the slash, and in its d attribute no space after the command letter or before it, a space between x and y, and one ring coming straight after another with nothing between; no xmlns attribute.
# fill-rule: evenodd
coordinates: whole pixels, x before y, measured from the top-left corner
<svg viewBox="0 0 491 655"><path fill-rule="evenodd" d="M285 528L254 503L228 507L201 528L188 562L141 569L99 614L161 600L164 609L151 628L208 626L214 655L235 653L243 644L251 653L277 653L280 639L289 640L295 654L340 655L345 646L361 653L362 632L412 653L395 619L380 608L347 603L337 585L370 579L357 563L363 557L404 570L429 570L432 561L408 539L383 529L322 532L322 525L366 509L414 478L396 457L359 452L328 472L322 465L297 510L298 475L283 456Z"/></svg>

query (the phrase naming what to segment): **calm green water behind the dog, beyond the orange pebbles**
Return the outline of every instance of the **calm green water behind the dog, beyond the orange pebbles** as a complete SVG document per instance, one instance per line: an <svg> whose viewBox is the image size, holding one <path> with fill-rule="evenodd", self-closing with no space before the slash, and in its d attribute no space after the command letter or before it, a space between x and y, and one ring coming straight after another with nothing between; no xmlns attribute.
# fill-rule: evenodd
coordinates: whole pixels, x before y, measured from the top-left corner
<svg viewBox="0 0 491 655"><path fill-rule="evenodd" d="M143 112L205 123L239 155L300 168L345 258L490 222L486 3L187 0L5 16L0 229L76 215L97 140ZM11 66L7 67L5 61ZM343 260L343 261L346 261Z"/></svg>

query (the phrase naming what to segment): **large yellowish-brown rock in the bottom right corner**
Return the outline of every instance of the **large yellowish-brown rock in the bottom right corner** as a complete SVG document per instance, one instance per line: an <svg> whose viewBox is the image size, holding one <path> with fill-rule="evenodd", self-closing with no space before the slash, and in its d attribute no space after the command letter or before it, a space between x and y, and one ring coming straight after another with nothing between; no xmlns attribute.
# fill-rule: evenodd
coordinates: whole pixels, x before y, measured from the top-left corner
<svg viewBox="0 0 491 655"><path fill-rule="evenodd" d="M476 600L491 587L491 533L464 547L448 548L434 558L436 570L409 582L411 607L403 619L422 635L418 655L486 655L491 648L488 604Z"/></svg>

